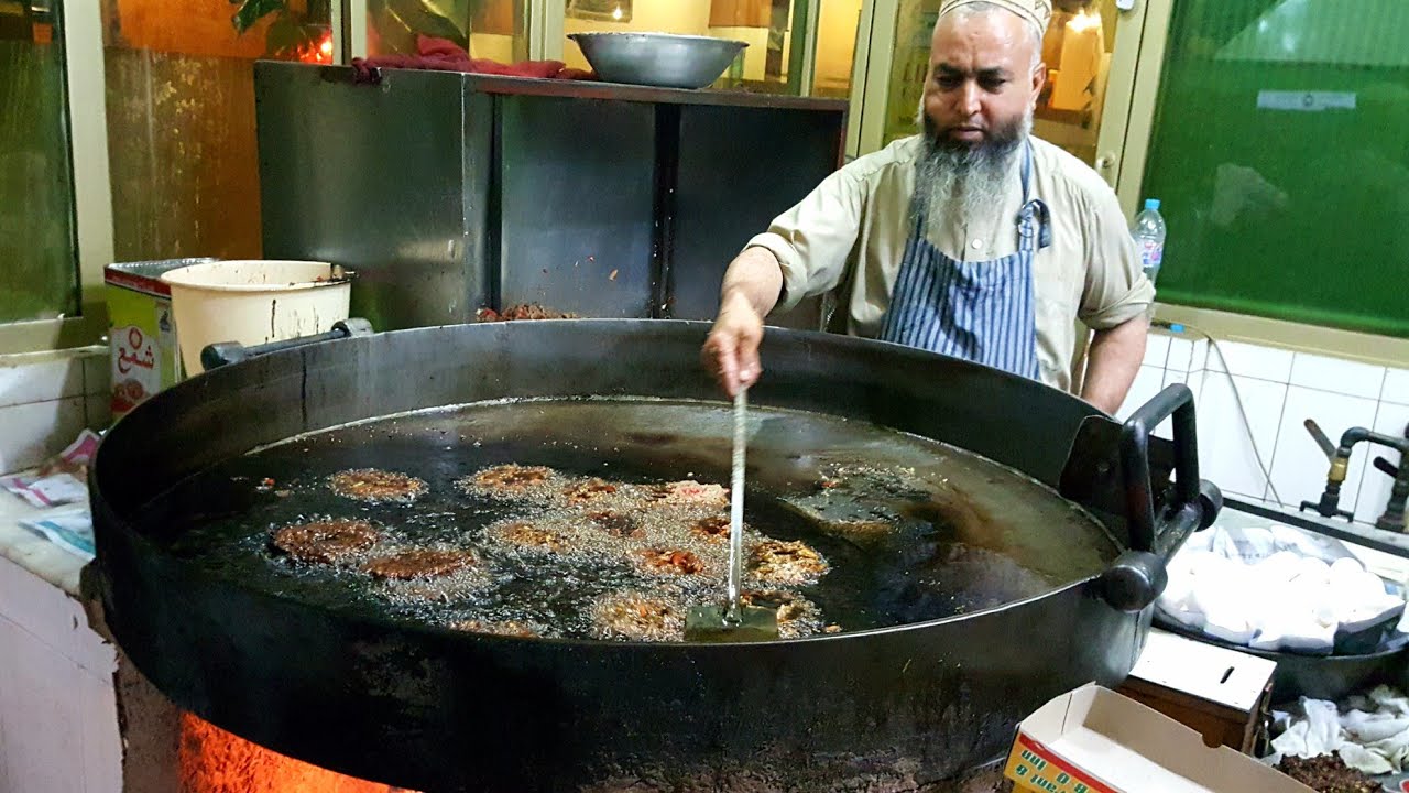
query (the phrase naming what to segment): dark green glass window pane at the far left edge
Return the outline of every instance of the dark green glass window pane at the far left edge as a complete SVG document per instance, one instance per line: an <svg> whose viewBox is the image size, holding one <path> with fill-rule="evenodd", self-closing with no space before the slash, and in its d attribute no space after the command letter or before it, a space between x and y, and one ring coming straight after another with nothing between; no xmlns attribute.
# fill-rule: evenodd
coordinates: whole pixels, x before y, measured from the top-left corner
<svg viewBox="0 0 1409 793"><path fill-rule="evenodd" d="M0 322L77 313L58 0L0 0Z"/></svg>

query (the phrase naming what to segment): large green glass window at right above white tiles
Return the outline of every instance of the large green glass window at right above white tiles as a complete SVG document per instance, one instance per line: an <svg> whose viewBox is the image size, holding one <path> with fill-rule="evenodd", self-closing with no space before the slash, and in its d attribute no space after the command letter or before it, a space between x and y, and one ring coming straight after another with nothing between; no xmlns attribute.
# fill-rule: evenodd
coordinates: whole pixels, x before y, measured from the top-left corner
<svg viewBox="0 0 1409 793"><path fill-rule="evenodd" d="M1409 336L1409 3L1174 4L1160 299Z"/></svg>

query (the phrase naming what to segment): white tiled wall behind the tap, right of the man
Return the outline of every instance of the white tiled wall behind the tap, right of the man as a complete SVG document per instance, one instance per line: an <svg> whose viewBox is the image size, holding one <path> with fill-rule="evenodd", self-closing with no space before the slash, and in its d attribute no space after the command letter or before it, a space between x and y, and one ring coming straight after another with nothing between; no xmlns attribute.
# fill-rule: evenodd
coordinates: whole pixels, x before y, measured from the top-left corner
<svg viewBox="0 0 1409 793"><path fill-rule="evenodd" d="M1281 504L1296 508L1320 497L1329 461L1306 432L1306 419L1320 425L1332 442L1339 442L1353 426L1402 437L1409 425L1409 368L1236 341L1219 341L1215 347L1192 333L1160 332L1150 334L1144 365L1119 416L1129 416L1171 382L1185 382L1193 391L1203 478L1240 500L1275 504L1281 497ZM1239 398L1247 422L1239 411ZM1254 449L1271 471L1271 481L1262 474ZM1389 449L1357 446L1340 505L1354 509L1355 519L1364 522L1374 522L1384 512L1392 484L1370 466L1371 454L1399 463Z"/></svg>

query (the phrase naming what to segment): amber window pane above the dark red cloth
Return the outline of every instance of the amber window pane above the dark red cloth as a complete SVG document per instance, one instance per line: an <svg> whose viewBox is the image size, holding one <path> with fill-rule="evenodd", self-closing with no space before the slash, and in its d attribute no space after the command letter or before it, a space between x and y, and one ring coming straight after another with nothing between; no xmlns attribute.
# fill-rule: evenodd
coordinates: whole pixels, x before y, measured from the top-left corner
<svg viewBox="0 0 1409 793"><path fill-rule="evenodd" d="M369 55L416 55L416 38L449 40L472 58L528 58L523 0L368 0Z"/></svg>

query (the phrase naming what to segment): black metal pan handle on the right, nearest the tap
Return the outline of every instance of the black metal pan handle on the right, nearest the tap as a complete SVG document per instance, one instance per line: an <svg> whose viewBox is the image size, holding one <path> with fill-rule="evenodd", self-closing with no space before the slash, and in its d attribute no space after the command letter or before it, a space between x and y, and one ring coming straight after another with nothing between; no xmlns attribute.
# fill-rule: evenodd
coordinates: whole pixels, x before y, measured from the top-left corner
<svg viewBox="0 0 1409 793"><path fill-rule="evenodd" d="M1174 492L1155 515L1150 487L1150 436L1174 416ZM1154 603L1169 577L1165 564L1184 540L1217 518L1223 495L1199 480L1198 426L1193 392L1169 385L1126 420L1120 429L1120 470L1124 480L1129 550L1100 576L1102 597L1120 611L1137 612Z"/></svg>

